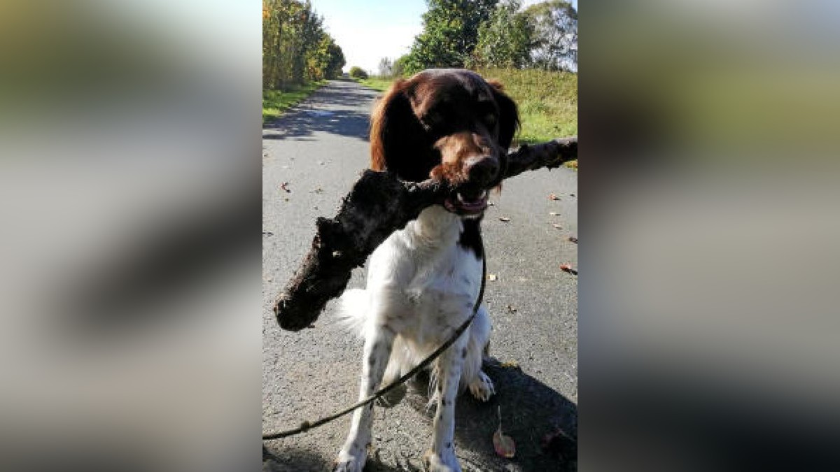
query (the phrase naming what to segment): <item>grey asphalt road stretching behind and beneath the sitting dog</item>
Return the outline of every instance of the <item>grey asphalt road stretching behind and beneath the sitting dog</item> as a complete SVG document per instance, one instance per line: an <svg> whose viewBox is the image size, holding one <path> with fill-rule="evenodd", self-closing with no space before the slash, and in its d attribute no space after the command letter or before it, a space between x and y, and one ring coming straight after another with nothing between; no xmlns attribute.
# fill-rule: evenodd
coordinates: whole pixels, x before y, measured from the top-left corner
<svg viewBox="0 0 840 472"><path fill-rule="evenodd" d="M331 302L314 328L281 330L271 312L277 292L302 260L318 216L332 217L365 169L368 116L378 92L330 81L263 128L264 431L296 427L348 406L359 388L361 341L333 323ZM550 194L559 200L549 198ZM456 406L456 453L465 470L575 470L575 448L559 456L541 445L561 429L577 437L577 174L537 170L505 181L483 224L486 302L493 332L487 375L496 396L469 394ZM504 222L500 218L510 218ZM363 286L357 270L349 286ZM504 364L502 364L504 363ZM366 470L417 470L432 433L423 388L400 405L375 409ZM493 451L496 409L517 443L514 459ZM325 470L344 443L349 417L297 437L265 443L264 470ZM569 445L571 443L564 442ZM569 457L573 456L573 457Z"/></svg>

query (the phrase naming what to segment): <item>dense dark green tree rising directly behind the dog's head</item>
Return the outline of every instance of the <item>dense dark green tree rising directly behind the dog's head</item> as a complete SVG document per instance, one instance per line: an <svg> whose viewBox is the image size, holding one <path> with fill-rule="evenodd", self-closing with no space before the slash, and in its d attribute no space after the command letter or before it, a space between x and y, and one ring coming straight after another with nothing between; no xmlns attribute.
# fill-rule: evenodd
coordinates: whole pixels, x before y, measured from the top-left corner
<svg viewBox="0 0 840 472"><path fill-rule="evenodd" d="M423 32L405 61L407 73L430 67L463 67L478 41L478 29L498 0L427 0Z"/></svg>

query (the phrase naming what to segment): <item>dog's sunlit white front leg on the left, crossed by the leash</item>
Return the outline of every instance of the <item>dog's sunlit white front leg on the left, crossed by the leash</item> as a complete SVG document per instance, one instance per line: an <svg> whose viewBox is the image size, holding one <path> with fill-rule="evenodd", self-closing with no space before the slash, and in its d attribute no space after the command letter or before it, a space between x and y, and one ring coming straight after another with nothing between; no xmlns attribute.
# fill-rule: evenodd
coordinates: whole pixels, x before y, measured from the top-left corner
<svg viewBox="0 0 840 472"><path fill-rule="evenodd" d="M387 326L370 330L370 333L365 338L365 354L362 355L360 401L379 388L388 359L391 357L391 346L394 344L394 332ZM350 433L336 459L336 472L360 472L365 467L367 449L370 446L370 427L373 424L373 405L370 403L362 406L353 413Z"/></svg>

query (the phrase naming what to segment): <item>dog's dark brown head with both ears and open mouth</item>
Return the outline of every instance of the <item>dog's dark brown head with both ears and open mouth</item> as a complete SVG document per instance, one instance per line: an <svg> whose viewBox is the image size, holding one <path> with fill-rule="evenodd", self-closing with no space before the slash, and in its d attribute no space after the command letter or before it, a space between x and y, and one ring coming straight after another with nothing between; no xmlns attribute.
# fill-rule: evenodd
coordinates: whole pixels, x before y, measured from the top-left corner
<svg viewBox="0 0 840 472"><path fill-rule="evenodd" d="M370 167L405 181L445 179L449 212L475 216L501 182L519 126L501 85L472 71L431 69L396 81L370 120Z"/></svg>

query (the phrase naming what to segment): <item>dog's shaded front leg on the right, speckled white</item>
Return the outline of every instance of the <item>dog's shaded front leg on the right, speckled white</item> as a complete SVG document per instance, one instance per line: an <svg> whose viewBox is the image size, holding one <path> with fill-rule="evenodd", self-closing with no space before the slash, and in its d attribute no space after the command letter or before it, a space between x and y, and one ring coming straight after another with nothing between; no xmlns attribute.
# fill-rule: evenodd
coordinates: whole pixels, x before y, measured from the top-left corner
<svg viewBox="0 0 840 472"><path fill-rule="evenodd" d="M432 449L425 455L426 468L431 472L461 470L455 457L455 398L466 353L467 337L461 336L438 359L438 411L434 415Z"/></svg>

